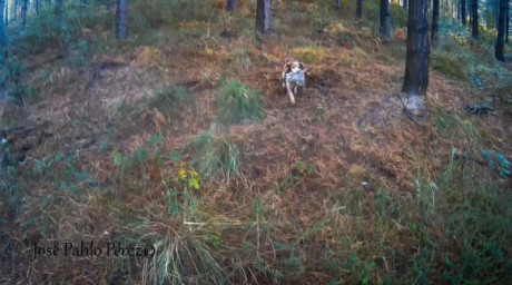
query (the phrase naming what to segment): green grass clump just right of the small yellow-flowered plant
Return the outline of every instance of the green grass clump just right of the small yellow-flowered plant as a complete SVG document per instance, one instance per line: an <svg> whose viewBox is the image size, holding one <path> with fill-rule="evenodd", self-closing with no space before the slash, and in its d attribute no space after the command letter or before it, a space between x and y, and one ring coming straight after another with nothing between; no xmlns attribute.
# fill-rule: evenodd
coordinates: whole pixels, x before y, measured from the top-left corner
<svg viewBox="0 0 512 285"><path fill-rule="evenodd" d="M193 166L204 176L221 169L229 179L238 174L239 150L226 136L206 132L190 142Z"/></svg>

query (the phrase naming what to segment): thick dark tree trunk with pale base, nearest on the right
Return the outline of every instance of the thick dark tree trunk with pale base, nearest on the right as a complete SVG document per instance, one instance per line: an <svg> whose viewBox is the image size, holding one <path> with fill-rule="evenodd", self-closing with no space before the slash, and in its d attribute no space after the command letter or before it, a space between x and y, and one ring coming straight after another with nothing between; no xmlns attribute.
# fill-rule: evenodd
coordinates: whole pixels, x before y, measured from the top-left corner
<svg viewBox="0 0 512 285"><path fill-rule="evenodd" d="M411 0L407 21L405 79L402 88L408 95L407 109L420 111L429 87L427 0Z"/></svg>

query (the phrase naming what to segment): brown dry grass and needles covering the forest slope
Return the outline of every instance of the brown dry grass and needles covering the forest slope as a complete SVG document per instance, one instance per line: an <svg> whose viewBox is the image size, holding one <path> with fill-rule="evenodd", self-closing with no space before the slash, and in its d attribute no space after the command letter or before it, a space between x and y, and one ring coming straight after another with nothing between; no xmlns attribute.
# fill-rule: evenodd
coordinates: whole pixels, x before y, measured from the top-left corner
<svg viewBox="0 0 512 285"><path fill-rule="evenodd" d="M245 9L223 17L235 22ZM280 9L278 4L276 13ZM62 67L60 60L45 62L43 55L37 55L41 63L30 70L29 81L42 100L19 108L23 116L17 125L51 136L12 138L14 145L28 144L30 149L16 168L23 203L2 225L10 248L1 249L17 254L11 258L2 254L0 282L179 282L170 272L151 269L145 258L61 256L29 262L32 243L56 240L167 240L171 245L159 248L179 255L185 284L417 281L421 274L412 269L416 259L410 257L419 256L426 242L411 220L420 215L421 203L415 208L405 202L415 200L421 187L443 187L440 181L453 148L474 158L482 148L494 149L510 159L512 112L504 104L510 89L486 91L494 96L491 116L467 116L463 105L482 101L483 96L431 70L430 110L416 126L396 96L404 73L404 57L396 56L404 55L400 39L383 46L364 24L342 21L356 40L339 45L331 30L287 33L292 20L276 18L278 26L265 37L247 32L249 28L228 30L233 35L227 37L226 23L206 27L190 21L160 31L198 31L186 42L122 48L117 55L97 55L79 69ZM116 45L122 43L112 49ZM294 50L297 47L303 49ZM279 81L289 58L312 68L294 107ZM41 82L41 67L51 70L51 83ZM219 76L260 91L266 118L219 125ZM173 114L147 107L168 86L186 88L190 101ZM440 118L447 117L453 124L440 128ZM193 159L188 146L207 131L237 146L239 175L227 179L220 170L201 177L196 190L177 177ZM155 134L164 135L158 145L150 144ZM115 165L112 150L136 160L141 147L148 153L142 161L127 169ZM171 151L180 158L171 159ZM161 161L154 159L157 156ZM455 161L452 167L470 165L510 191L511 183L500 180L486 166ZM375 214L384 194L390 197L385 207L401 213L386 223ZM171 196L181 205L175 214L169 213ZM447 205L442 202L431 205L427 213L443 207ZM444 246L459 243L443 235L437 218L429 223L417 222L429 238L443 240ZM446 258L456 256L456 250L446 253ZM511 248L504 250L510 258ZM442 272L445 261L432 258L432 272Z"/></svg>

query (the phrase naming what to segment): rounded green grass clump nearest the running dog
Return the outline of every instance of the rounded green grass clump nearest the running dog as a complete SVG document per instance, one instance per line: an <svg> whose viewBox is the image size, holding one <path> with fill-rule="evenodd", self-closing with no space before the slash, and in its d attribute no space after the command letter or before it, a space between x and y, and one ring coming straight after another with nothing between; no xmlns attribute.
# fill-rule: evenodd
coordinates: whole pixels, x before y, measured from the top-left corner
<svg viewBox="0 0 512 285"><path fill-rule="evenodd" d="M223 124L258 121L265 118L262 94L238 80L220 86L217 97L218 119Z"/></svg>

